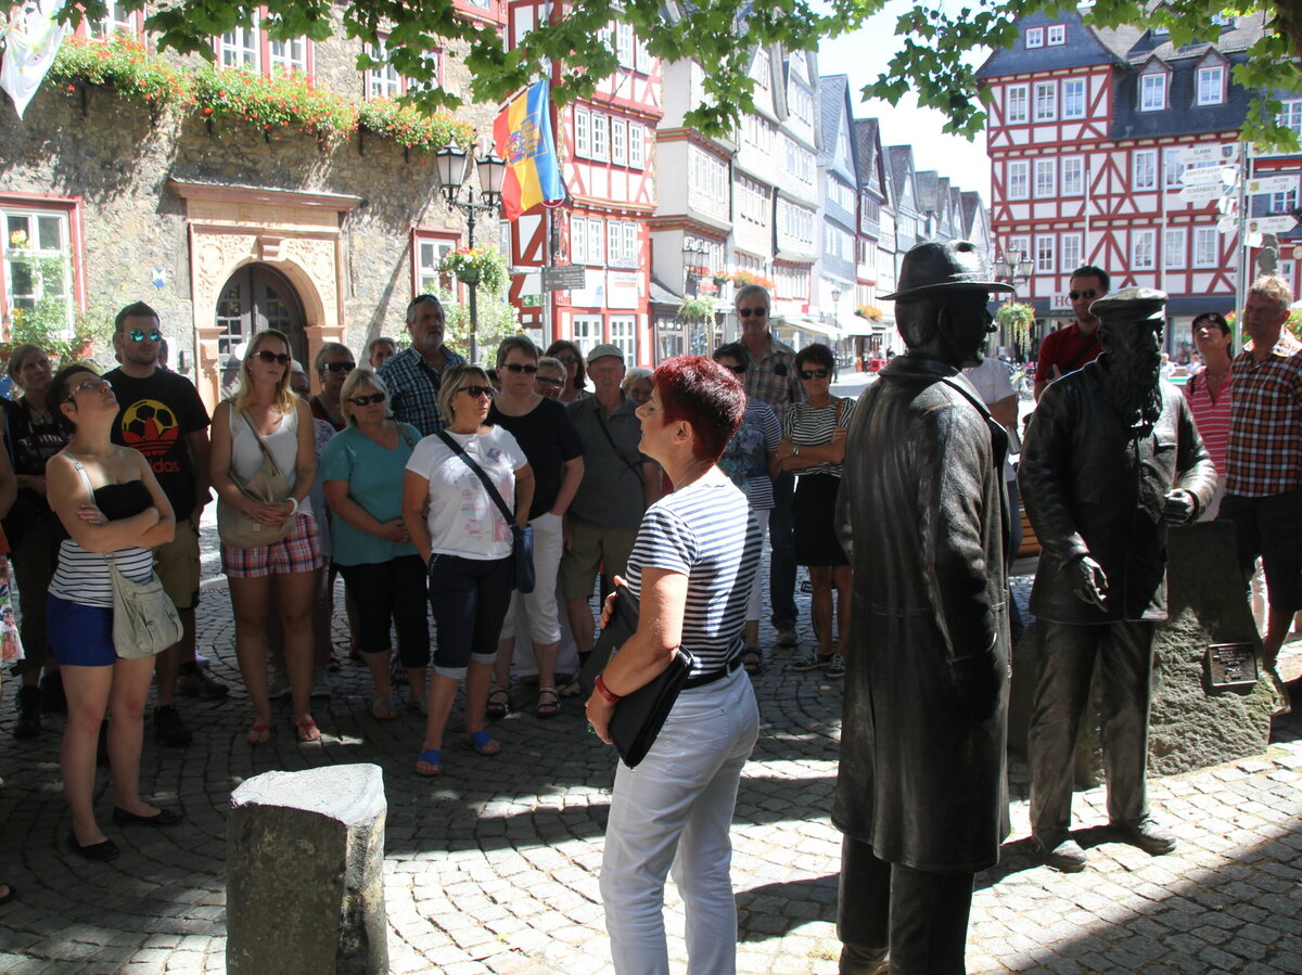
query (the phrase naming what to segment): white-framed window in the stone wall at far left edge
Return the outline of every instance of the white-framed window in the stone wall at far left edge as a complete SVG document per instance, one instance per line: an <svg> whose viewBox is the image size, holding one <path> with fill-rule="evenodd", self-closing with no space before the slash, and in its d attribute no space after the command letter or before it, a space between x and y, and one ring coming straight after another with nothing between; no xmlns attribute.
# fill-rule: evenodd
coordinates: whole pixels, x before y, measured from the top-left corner
<svg viewBox="0 0 1302 975"><path fill-rule="evenodd" d="M73 247L69 211L0 202L4 216L4 312L49 312L72 327Z"/></svg>

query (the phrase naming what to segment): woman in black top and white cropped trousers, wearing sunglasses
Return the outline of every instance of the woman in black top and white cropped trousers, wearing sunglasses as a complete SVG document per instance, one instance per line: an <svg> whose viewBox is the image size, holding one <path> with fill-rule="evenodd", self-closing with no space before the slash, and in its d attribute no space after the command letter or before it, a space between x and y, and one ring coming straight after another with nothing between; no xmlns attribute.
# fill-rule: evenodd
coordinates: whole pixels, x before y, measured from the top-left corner
<svg viewBox="0 0 1302 975"><path fill-rule="evenodd" d="M583 441L569 411L534 389L538 348L527 336L513 335L497 346L501 393L493 400L488 422L510 431L534 473L534 501L529 523L534 526L534 591L513 594L497 644L496 687L488 695L488 717L505 717L512 708L510 663L516 652L516 617L523 599L529 637L538 664L538 717L556 717L561 699L556 693L556 653L561 625L556 608L556 570L564 548L562 518L583 479Z"/></svg>

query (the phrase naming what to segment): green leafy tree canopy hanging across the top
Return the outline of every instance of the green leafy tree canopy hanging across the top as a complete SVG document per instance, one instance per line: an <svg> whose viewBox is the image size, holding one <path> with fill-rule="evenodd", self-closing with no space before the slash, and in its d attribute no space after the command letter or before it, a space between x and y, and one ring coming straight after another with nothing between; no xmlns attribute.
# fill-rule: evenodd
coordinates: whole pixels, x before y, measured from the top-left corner
<svg viewBox="0 0 1302 975"><path fill-rule="evenodd" d="M539 74L539 65L555 60L560 82L555 96L564 103L591 95L598 79L617 68L615 52L602 35L612 20L637 30L647 49L667 61L695 59L707 66L706 104L695 107L687 124L708 134L730 131L741 113L754 108L754 81L749 76L755 46L780 43L789 51L815 51L824 36L858 29L887 0L583 0L572 4L564 17L527 31L506 49L497 27L458 12L453 0L266 0L263 26L272 39L328 38L341 10L346 36L376 42L387 33L389 62L417 85L409 96L427 107L456 108L460 99L437 87L424 51L465 44L465 60L473 77L471 96L496 102L506 98ZM141 9L145 0L124 0L118 9ZM1276 33L1267 33L1250 51L1250 60L1234 69L1236 79L1260 91L1245 134L1273 144L1295 146L1293 134L1275 124L1279 91L1302 91L1298 52L1302 51L1302 12L1295 0L1167 0L1152 9L1137 0L1095 0L1086 22L1109 27L1124 23L1160 25L1170 30L1173 44L1212 40L1219 29L1211 18L1219 13L1266 12L1275 18ZM986 121L986 92L976 81L970 51L1010 47L1017 38L1018 17L1052 13L1056 0L952 0L948 4L918 3L896 22L900 51L863 94L892 104L909 91L921 104L949 117L947 130L973 138ZM158 35L159 47L212 57L212 36L236 25L249 25L256 5L230 0L163 0L146 20ZM553 5L557 12L561 4ZM105 14L104 0L82 0L65 8L64 17L78 20ZM359 68L375 62L362 55Z"/></svg>

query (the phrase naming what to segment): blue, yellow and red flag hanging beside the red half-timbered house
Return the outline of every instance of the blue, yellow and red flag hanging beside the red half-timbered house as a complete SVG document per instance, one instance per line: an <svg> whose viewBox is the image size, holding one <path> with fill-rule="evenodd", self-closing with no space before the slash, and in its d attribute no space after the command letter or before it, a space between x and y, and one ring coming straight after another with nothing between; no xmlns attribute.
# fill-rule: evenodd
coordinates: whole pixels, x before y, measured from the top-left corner
<svg viewBox="0 0 1302 975"><path fill-rule="evenodd" d="M493 124L497 155L506 160L501 202L508 220L516 220L538 203L565 199L547 79L535 81L506 103Z"/></svg>

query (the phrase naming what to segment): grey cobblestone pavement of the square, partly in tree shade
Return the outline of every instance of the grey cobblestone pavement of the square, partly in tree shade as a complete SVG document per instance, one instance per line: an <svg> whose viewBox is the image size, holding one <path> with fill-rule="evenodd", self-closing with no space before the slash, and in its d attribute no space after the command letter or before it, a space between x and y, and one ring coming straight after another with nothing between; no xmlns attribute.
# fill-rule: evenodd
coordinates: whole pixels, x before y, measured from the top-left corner
<svg viewBox="0 0 1302 975"><path fill-rule="evenodd" d="M210 583L211 584L211 583ZM802 612L807 608L802 597ZM340 613L341 616L341 613ZM342 621L336 643L344 646ZM802 639L811 634L802 631ZM225 702L182 699L195 729L185 751L145 746L143 791L180 807L174 829L118 828L100 776L98 808L122 855L72 858L59 784L59 720L30 742L9 737L13 685L0 707L0 879L21 897L0 907L0 971L161 972L224 968L225 816L230 790L268 769L374 762L389 815L385 899L397 972L544 975L607 971L598 893L612 752L586 734L574 699L553 721L529 709L493 726L504 751L445 750L447 771L413 775L422 720L368 712L359 664L314 707L324 745L298 745L288 704L272 741L245 743L249 722L224 588L204 592L201 647ZM742 972L835 972L840 837L828 823L841 690L769 652L758 678L763 729L737 803L733 881ZM523 703L531 703L527 693ZM1302 695L1299 695L1302 700ZM453 726L460 715L453 715ZM148 735L147 735L148 737ZM1302 972L1302 720L1276 728L1268 754L1152 782L1181 838L1151 858L1111 842L1103 793L1077 798L1090 870L1061 875L1027 850L1026 776L1010 769L1013 833L997 868L978 877L973 972ZM672 884L668 929L682 968L682 907Z"/></svg>

